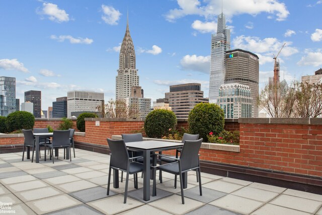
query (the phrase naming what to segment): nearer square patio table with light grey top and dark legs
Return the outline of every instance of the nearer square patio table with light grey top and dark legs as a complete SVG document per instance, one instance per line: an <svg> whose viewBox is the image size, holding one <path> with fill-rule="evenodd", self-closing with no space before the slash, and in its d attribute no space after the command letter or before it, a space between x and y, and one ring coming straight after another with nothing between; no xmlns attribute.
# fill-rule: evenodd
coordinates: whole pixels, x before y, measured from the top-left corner
<svg viewBox="0 0 322 215"><path fill-rule="evenodd" d="M160 140L146 140L136 142L125 142L128 149L143 152L143 199L150 200L150 152L161 152L179 149L183 147L181 142L167 142ZM118 187L118 170L113 174L114 187ZM186 176L184 177L186 178ZM185 184L187 180L185 180Z"/></svg>

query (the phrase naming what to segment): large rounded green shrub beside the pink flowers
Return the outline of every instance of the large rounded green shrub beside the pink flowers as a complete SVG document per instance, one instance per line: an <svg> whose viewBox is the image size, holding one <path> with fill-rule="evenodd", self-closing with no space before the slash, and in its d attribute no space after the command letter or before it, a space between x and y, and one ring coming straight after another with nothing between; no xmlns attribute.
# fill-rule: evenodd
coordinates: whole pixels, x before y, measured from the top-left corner
<svg viewBox="0 0 322 215"><path fill-rule="evenodd" d="M223 130L224 113L217 104L199 103L190 111L188 123L191 133L199 134L200 138L208 141L210 132L219 134Z"/></svg>

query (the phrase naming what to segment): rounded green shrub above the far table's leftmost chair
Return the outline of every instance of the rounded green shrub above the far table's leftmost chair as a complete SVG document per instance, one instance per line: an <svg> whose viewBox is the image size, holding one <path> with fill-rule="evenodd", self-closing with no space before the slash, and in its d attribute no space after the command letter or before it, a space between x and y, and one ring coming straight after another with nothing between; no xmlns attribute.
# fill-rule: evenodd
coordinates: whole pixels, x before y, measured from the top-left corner
<svg viewBox="0 0 322 215"><path fill-rule="evenodd" d="M35 117L27 111L15 111L10 113L6 119L8 132L19 129L32 129L35 124Z"/></svg>

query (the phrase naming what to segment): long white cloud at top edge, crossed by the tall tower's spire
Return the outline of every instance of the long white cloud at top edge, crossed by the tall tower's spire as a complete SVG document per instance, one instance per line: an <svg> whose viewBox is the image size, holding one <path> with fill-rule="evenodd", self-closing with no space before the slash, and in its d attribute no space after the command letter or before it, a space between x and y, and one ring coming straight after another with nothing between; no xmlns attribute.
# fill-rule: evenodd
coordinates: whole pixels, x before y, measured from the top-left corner
<svg viewBox="0 0 322 215"><path fill-rule="evenodd" d="M174 22L176 19L188 16L199 15L207 18L213 18L221 13L220 0L177 0L179 8L172 9L166 14L166 19L169 22ZM256 16L260 13L268 13L270 17L276 16L277 21L282 21L287 18L289 12L284 3L279 3L277 0L225 0L224 14L229 19L232 16L240 14L251 14ZM269 18L269 17L268 17Z"/></svg>

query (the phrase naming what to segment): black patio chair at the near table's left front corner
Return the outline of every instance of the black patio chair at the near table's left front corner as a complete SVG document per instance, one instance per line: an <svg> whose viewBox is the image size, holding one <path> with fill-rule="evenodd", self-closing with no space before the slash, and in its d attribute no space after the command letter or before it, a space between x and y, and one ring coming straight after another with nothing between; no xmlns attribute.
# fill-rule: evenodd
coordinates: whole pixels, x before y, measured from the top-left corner
<svg viewBox="0 0 322 215"><path fill-rule="evenodd" d="M143 164L134 162L134 160L141 158L142 156L130 158L123 139L115 140L115 139L107 138L107 142L111 150L111 157L110 157L110 168L109 168L109 177L108 177L106 194L107 195L110 194L111 170L114 169L114 170L121 170L123 172L126 172L127 174L126 174L126 180L125 180L125 193L124 193L124 203L126 203L129 175L133 174L134 187L136 189L138 188L137 173L143 172Z"/></svg>

